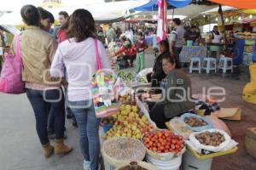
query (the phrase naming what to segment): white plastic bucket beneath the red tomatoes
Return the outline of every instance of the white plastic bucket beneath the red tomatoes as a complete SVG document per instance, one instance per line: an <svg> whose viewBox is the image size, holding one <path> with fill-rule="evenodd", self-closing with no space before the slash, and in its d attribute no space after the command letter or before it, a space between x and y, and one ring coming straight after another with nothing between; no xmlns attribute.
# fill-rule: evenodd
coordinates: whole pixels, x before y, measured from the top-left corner
<svg viewBox="0 0 256 170"><path fill-rule="evenodd" d="M147 155L147 161L148 163L152 163L154 167L157 167L160 170L178 170L182 164L182 156L173 158L170 161L160 161Z"/></svg>

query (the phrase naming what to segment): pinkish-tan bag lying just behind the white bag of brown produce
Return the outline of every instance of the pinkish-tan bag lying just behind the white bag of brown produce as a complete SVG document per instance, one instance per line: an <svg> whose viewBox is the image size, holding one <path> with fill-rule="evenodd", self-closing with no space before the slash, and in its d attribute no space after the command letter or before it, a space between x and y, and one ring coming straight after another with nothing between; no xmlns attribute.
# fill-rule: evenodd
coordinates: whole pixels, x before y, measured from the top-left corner
<svg viewBox="0 0 256 170"><path fill-rule="evenodd" d="M224 132L228 133L231 136L229 127L222 120L218 119L217 115L212 114L211 116L206 116L206 118L209 122L211 122L214 128L223 130Z"/></svg>

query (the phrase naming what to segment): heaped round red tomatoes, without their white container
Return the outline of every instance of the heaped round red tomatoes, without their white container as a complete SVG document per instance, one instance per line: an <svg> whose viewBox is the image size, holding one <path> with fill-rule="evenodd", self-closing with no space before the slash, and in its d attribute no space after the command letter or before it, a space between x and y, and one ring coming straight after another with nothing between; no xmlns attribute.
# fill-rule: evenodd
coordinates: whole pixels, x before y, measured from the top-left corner
<svg viewBox="0 0 256 170"><path fill-rule="evenodd" d="M179 153L183 150L184 141L182 136L175 135L168 130L147 133L143 137L143 144L148 150L157 153Z"/></svg>

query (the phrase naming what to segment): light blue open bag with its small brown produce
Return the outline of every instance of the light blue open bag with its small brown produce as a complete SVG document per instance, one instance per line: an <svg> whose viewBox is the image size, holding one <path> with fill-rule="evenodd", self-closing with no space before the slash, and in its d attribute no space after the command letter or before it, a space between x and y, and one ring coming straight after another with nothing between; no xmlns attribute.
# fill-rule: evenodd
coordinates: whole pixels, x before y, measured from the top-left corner
<svg viewBox="0 0 256 170"><path fill-rule="evenodd" d="M203 116L185 113L180 117L180 119L194 132L200 132L202 130L212 128L211 122L207 121Z"/></svg>

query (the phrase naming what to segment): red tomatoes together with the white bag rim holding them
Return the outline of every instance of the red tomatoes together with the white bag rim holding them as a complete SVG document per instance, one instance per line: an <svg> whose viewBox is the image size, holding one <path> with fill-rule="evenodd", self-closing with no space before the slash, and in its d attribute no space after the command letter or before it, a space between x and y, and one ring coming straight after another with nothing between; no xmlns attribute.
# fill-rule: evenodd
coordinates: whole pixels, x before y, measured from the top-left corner
<svg viewBox="0 0 256 170"><path fill-rule="evenodd" d="M185 151L183 137L168 130L146 133L143 136L143 144L147 148L147 154L157 160L172 160Z"/></svg>

